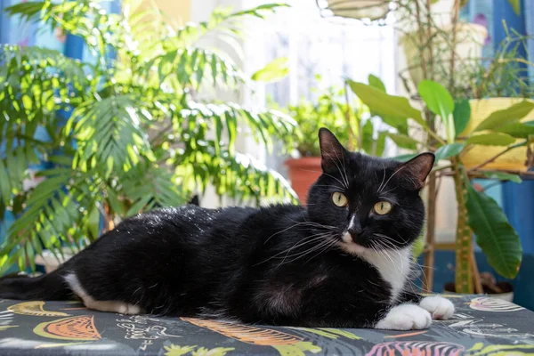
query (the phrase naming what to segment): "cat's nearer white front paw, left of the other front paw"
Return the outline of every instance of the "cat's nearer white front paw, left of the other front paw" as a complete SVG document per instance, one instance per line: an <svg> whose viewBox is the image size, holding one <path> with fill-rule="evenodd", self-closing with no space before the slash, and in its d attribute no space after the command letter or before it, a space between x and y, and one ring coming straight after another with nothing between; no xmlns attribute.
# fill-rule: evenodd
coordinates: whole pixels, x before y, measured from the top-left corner
<svg viewBox="0 0 534 356"><path fill-rule="evenodd" d="M416 304L401 304L392 307L375 328L386 330L420 330L432 324L432 317L425 309Z"/></svg>

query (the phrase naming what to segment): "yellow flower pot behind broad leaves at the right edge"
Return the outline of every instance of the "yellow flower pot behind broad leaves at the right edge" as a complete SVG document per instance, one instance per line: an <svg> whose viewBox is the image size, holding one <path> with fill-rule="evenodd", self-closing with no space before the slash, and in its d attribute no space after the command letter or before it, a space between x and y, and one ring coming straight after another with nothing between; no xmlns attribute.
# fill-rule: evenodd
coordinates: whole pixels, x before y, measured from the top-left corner
<svg viewBox="0 0 534 356"><path fill-rule="evenodd" d="M471 134L475 127L479 125L484 119L490 116L490 114L497 110L507 109L510 106L523 101L522 98L490 98L471 100L469 104L471 106L471 119L469 125L465 127L465 130L460 136L467 136ZM534 120L534 110L530 111L529 115L523 117L521 121ZM521 140L517 140L520 142ZM462 158L462 162L467 168L478 166L482 162L498 155L499 152L505 150L505 147L498 146L475 146L469 150ZM484 166L484 169L504 169L510 171L525 171L525 161L527 159L527 148L519 147L514 150L506 152L506 154L500 156L495 161Z"/></svg>

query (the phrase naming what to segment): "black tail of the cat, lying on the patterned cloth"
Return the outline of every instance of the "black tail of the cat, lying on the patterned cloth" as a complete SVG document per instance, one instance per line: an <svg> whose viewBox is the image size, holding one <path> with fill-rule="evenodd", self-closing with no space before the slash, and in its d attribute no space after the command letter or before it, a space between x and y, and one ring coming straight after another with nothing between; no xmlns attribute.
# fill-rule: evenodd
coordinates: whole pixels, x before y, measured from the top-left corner
<svg viewBox="0 0 534 356"><path fill-rule="evenodd" d="M67 300L72 296L63 269L39 277L13 273L0 279L0 298L19 300Z"/></svg>

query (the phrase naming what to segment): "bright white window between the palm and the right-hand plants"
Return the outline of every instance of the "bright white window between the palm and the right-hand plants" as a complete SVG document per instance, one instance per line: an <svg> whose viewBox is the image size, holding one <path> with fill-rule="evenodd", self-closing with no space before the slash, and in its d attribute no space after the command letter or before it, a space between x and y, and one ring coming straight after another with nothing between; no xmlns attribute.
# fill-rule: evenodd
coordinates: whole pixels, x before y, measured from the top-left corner
<svg viewBox="0 0 534 356"><path fill-rule="evenodd" d="M392 26L323 18L312 0L292 0L288 4L290 8L269 20L255 22L247 33L248 72L279 57L287 57L289 64L286 78L260 88L260 104L265 104L268 97L282 107L300 98L313 100L318 96L317 88L343 85L344 77L367 82L369 74L380 77L388 93L394 93L397 45ZM284 173L283 158L271 155L265 160L267 166Z"/></svg>

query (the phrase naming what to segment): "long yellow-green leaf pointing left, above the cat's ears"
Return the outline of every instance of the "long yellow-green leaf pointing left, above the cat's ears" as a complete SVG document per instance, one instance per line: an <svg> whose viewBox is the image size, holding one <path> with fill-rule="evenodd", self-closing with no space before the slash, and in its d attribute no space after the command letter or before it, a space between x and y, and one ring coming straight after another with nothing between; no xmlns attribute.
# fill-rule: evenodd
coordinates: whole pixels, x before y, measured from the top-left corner
<svg viewBox="0 0 534 356"><path fill-rule="evenodd" d="M425 120L421 111L414 109L408 99L402 96L389 95L371 85L357 83L347 79L347 83L361 101L366 104L376 115L401 119L412 118L419 125L426 128Z"/></svg>

